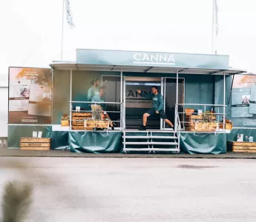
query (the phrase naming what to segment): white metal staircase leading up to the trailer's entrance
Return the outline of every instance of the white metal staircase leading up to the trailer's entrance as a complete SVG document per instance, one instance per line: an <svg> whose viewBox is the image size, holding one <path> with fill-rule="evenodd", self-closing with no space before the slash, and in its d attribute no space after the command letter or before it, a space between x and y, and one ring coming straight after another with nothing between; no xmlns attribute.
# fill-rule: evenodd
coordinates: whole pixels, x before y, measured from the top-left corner
<svg viewBox="0 0 256 222"><path fill-rule="evenodd" d="M180 135L167 130L128 130L122 135L124 152L180 152Z"/></svg>

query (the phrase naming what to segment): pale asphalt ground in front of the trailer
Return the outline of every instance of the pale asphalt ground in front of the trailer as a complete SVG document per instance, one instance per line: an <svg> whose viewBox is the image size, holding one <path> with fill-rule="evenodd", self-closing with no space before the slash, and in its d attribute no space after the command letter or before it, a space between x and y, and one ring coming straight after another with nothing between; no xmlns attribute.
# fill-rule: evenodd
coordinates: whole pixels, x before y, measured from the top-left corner
<svg viewBox="0 0 256 222"><path fill-rule="evenodd" d="M30 181L28 221L256 221L256 161L0 158L6 181Z"/></svg>

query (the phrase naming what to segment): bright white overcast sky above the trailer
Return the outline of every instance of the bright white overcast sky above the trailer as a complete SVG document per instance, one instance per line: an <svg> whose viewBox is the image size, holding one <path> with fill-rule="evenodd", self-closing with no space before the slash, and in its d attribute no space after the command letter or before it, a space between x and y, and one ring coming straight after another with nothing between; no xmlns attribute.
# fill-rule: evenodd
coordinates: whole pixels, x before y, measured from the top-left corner
<svg viewBox="0 0 256 222"><path fill-rule="evenodd" d="M60 59L62 0L0 0L0 73L9 66L48 67ZM256 73L256 0L217 0L217 53ZM76 48L211 53L212 0L70 0L64 54Z"/></svg>

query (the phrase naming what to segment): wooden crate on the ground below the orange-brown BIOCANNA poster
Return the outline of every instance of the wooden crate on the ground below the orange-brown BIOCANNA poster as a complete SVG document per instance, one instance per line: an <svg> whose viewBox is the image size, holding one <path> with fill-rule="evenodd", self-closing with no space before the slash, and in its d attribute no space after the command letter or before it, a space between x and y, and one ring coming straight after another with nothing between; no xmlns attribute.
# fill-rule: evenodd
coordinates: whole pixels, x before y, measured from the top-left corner
<svg viewBox="0 0 256 222"><path fill-rule="evenodd" d="M20 140L22 150L50 150L50 138L22 137Z"/></svg>

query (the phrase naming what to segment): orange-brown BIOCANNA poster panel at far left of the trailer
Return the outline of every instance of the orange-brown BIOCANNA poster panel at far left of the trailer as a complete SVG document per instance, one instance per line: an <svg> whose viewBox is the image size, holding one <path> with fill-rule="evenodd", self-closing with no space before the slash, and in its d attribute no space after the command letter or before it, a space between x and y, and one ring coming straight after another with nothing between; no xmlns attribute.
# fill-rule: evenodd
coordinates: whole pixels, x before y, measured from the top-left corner
<svg viewBox="0 0 256 222"><path fill-rule="evenodd" d="M52 73L42 68L9 68L9 124L51 124Z"/></svg>

